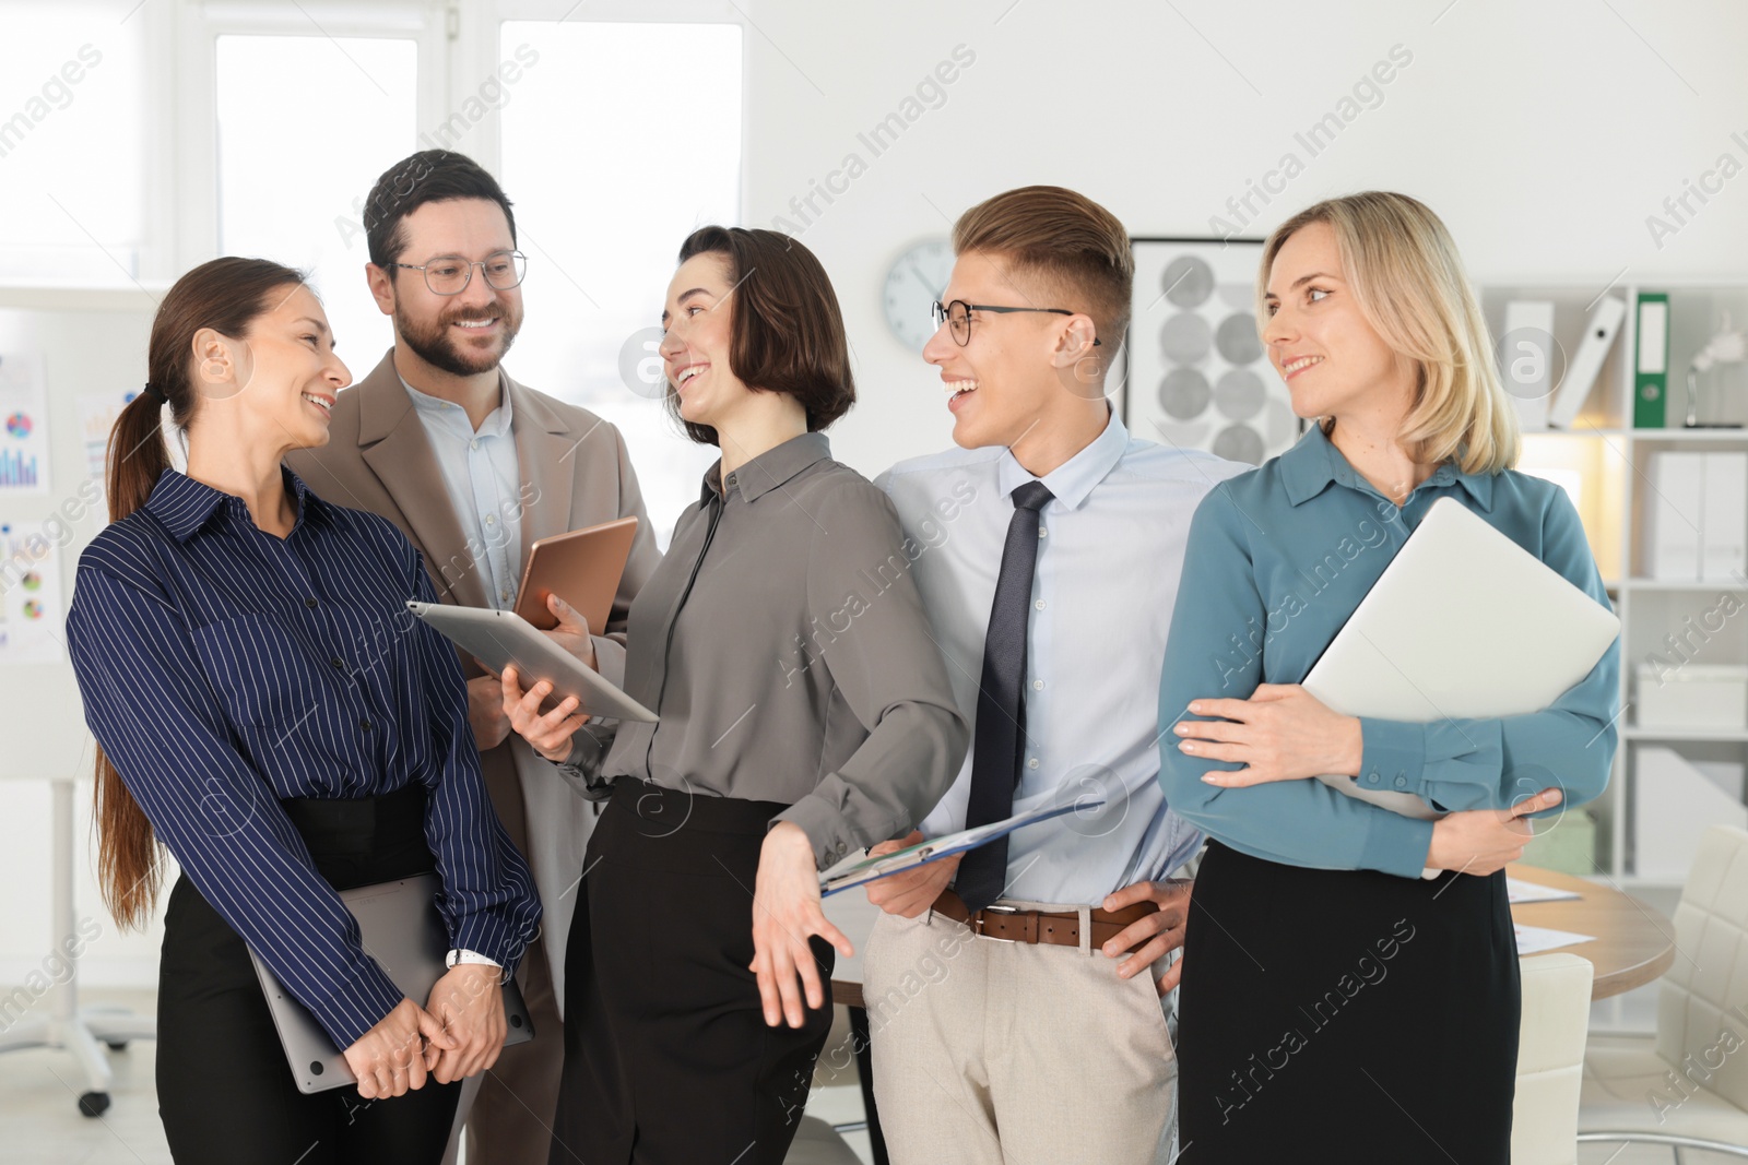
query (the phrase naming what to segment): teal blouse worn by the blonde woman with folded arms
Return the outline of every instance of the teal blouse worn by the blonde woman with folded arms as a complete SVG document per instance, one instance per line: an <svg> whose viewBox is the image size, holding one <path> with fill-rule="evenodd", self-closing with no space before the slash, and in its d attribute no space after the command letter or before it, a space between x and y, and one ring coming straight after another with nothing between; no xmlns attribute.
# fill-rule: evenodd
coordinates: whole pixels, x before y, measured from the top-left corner
<svg viewBox="0 0 1748 1165"><path fill-rule="evenodd" d="M1185 711L1199 697L1248 699L1259 683L1301 683L1439 498L1456 498L1608 606L1578 512L1559 486L1516 470L1475 475L1442 465L1398 508L1313 426L1196 512L1159 688L1159 779L1176 812L1253 858L1419 875L1430 821L1309 779L1246 789L1204 784L1210 769L1241 765L1182 753L1171 725L1201 720ZM1563 805L1549 812L1564 812L1608 782L1619 709L1615 639L1589 676L1540 713L1425 725L1362 716L1356 779L1451 810L1503 809L1559 788Z"/></svg>

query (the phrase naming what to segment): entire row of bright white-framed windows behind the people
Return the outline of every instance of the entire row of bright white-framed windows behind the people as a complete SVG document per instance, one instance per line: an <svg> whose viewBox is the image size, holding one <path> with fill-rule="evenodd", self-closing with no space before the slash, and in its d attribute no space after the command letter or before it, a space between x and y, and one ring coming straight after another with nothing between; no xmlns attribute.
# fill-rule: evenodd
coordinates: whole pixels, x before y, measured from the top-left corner
<svg viewBox="0 0 1748 1165"><path fill-rule="evenodd" d="M617 424L666 545L715 451L666 417L682 239L741 217L725 0L0 0L0 281L163 286L220 253L311 272L353 376L392 342L360 206L440 145L530 257L505 367ZM687 77L685 86L662 77Z"/></svg>

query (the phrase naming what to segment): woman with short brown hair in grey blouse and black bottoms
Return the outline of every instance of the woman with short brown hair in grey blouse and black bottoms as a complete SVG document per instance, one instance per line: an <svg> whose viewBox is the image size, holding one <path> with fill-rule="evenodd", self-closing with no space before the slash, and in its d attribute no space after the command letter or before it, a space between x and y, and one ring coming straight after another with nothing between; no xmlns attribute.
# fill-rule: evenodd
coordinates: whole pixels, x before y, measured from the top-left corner
<svg viewBox="0 0 1748 1165"><path fill-rule="evenodd" d="M680 248L669 407L722 459L631 606L626 690L659 723L505 713L584 796L552 1162L778 1165L832 1022L818 872L933 807L968 730L886 496L818 430L855 400L837 297L773 231Z"/></svg>

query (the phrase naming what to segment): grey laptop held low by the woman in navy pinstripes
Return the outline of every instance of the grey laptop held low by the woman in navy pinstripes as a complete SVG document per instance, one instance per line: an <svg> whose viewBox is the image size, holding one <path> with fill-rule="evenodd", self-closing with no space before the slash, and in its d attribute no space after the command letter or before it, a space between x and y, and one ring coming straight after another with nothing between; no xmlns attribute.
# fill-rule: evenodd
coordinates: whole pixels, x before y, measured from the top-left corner
<svg viewBox="0 0 1748 1165"><path fill-rule="evenodd" d="M365 954L376 959L395 987L420 1006L425 1006L432 987L447 969L444 955L449 952L449 936L442 915L437 913L440 889L442 882L435 873L423 873L339 893L339 900L358 919ZM285 990L253 948L248 957L260 976L260 989L267 996L267 1010L280 1031L280 1043L285 1044L285 1058L292 1065L297 1090L313 1093L357 1085L358 1078L346 1067L346 1057L316 1024L316 1017ZM535 1037L535 1025L516 980L503 985L503 1018L509 1024L505 1048Z"/></svg>

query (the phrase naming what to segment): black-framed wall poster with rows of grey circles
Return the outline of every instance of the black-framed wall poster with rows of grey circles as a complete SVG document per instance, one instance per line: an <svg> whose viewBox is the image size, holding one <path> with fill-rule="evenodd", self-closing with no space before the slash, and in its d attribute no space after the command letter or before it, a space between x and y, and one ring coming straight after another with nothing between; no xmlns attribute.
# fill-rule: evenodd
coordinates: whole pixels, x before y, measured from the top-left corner
<svg viewBox="0 0 1748 1165"><path fill-rule="evenodd" d="M1136 437L1262 465L1299 440L1257 337L1260 239L1131 239L1124 419Z"/></svg>

